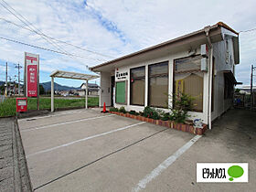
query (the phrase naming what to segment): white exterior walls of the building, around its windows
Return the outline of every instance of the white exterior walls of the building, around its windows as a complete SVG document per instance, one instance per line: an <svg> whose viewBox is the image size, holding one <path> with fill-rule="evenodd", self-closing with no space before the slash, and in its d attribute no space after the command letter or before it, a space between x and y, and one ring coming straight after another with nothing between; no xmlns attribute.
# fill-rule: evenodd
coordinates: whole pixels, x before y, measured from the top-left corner
<svg viewBox="0 0 256 192"><path fill-rule="evenodd" d="M223 31L225 33L225 31ZM230 35L230 34L229 34ZM231 34L232 35L232 34ZM224 35L223 35L224 37ZM225 41L220 41L218 43L213 44L213 56L215 58L215 82L214 82L214 111L211 113L213 121L218 116L220 116L223 112L227 111L232 106L232 100L224 100L224 75L223 70L231 70L234 69L234 54L233 54L233 43L232 39L228 38L228 50L229 50L229 58L227 59L227 46ZM197 48L197 54L200 54L200 48ZM142 112L144 110L144 106L147 106L148 101L148 65L168 61L169 62L169 85L168 85L168 94L172 95L173 91L173 65L175 59L185 58L188 56L187 50L171 53L166 55L165 57L159 57L155 59L146 60L144 62L131 63L129 66L119 67L119 72L128 72L128 76L125 78L127 80L127 105L114 103L114 107L125 107L126 111L137 111ZM231 58L230 58L231 57ZM227 62L226 62L227 60ZM144 106L136 106L130 104L130 69L145 66L145 98L144 98ZM115 70L115 73L117 70ZM234 72L234 71L233 71ZM203 95L203 112L188 112L190 115L190 119L200 118L204 123L208 124L208 72L204 72L204 95ZM117 78L115 77L115 80ZM107 105L111 103L111 93L108 92L108 88L111 87L111 74L110 73L101 73L101 106L105 101ZM172 107L172 99L169 98L169 106ZM162 109L164 110L164 109ZM165 112L170 112L170 110L165 109Z"/></svg>

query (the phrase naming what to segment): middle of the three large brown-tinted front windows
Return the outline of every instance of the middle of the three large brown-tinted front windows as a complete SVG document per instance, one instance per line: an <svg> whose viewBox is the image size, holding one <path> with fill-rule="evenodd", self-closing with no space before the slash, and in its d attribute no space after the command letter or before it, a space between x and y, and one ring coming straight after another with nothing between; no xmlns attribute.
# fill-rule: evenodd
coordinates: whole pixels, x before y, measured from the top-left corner
<svg viewBox="0 0 256 192"><path fill-rule="evenodd" d="M148 66L148 103L168 107L168 61Z"/></svg>

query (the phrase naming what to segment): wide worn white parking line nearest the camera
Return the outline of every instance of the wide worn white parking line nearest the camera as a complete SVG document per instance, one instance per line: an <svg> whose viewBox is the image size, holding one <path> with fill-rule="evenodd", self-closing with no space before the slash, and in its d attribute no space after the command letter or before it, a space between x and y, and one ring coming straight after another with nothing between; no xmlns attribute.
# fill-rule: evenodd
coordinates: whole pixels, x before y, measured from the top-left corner
<svg viewBox="0 0 256 192"><path fill-rule="evenodd" d="M184 144L181 148L179 148L176 153L165 159L162 164L158 165L150 174L140 180L137 186L133 188L133 191L137 192L144 189L149 182L155 179L156 176L159 176L161 172L164 171L165 168L167 168L169 165L172 165L176 161L176 159L179 156L183 155L187 151L187 149L190 148L190 146L197 142L199 138L201 138L201 135L196 135L195 137L193 137L193 139L187 142L187 144Z"/></svg>

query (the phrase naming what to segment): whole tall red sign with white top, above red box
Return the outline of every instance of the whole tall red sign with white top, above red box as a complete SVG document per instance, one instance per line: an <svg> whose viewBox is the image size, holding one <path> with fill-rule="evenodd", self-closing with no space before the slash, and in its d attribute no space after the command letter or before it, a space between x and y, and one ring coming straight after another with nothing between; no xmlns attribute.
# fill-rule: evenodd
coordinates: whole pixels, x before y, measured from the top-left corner
<svg viewBox="0 0 256 192"><path fill-rule="evenodd" d="M25 53L27 97L38 96L38 55Z"/></svg>

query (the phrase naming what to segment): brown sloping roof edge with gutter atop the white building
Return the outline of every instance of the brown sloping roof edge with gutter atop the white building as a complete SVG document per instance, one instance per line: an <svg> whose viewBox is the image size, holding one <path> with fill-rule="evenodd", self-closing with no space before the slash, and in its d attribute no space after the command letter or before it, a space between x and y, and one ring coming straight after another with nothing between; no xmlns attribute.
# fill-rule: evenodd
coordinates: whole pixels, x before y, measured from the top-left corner
<svg viewBox="0 0 256 192"><path fill-rule="evenodd" d="M232 29L228 25L224 24L223 22L219 22L219 23L217 23L213 26L208 26L208 28L209 28L209 37L211 38L212 42L217 42L218 40L220 40L220 38L222 38L222 37L218 36L219 34L221 34L221 29L220 29L221 27L228 29L230 32L232 32L236 35L239 35L238 32L236 32L234 29ZM198 37L199 35L202 35L202 34L205 36L205 28L206 27L204 27L200 30L197 30L195 32L189 33L185 36L176 37L174 39L165 41L164 43L160 43L160 44L155 45L155 46L150 47L150 48L144 48L142 50L139 50L139 51L133 52L131 54L125 55L121 58L112 59L112 60L104 62L100 65L91 67L90 69L93 70L93 71L99 71L99 69L101 67L117 63L117 62L122 61L124 59L130 59L130 58L133 58L133 57L138 56L138 55L142 55L146 52L149 52L149 51L152 51L152 50L155 50L155 49L160 49L160 48L164 48L164 47L167 47L167 46L171 46L175 43L186 41L188 38ZM217 32L217 30L219 30L219 33ZM189 41L186 41L186 43L189 44Z"/></svg>

